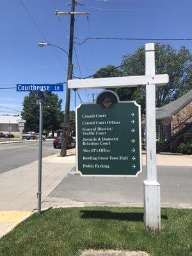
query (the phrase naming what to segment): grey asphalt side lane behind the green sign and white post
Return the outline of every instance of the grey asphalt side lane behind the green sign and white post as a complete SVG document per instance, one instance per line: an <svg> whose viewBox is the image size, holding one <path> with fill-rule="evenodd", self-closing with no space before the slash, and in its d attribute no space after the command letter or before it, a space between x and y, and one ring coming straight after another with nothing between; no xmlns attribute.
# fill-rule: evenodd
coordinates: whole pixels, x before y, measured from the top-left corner
<svg viewBox="0 0 192 256"><path fill-rule="evenodd" d="M75 200L107 205L142 205L143 180L147 175L145 166L143 169L138 178L81 177L68 173L47 200L51 202L58 198L60 202ZM157 166L157 180L161 184L161 204L192 207L191 178L191 167Z"/></svg>

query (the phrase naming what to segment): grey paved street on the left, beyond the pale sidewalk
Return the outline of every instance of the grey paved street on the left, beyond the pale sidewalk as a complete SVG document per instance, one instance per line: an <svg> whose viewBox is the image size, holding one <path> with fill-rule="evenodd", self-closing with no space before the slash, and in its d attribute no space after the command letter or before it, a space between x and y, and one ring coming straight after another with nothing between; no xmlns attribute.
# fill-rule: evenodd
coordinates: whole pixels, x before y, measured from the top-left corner
<svg viewBox="0 0 192 256"><path fill-rule="evenodd" d="M60 152L52 147L52 140L43 142L43 157ZM33 163L38 159L38 141L0 145L0 173Z"/></svg>

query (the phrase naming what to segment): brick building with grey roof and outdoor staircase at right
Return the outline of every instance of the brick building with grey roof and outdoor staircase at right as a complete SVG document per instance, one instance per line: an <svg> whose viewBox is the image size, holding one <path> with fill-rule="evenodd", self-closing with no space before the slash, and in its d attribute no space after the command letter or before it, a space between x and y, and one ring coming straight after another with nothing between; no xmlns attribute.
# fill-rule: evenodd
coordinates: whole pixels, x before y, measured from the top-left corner
<svg viewBox="0 0 192 256"><path fill-rule="evenodd" d="M142 130L144 134L145 121ZM157 152L174 151L182 142L192 143L192 90L156 109L156 139L164 141Z"/></svg>

